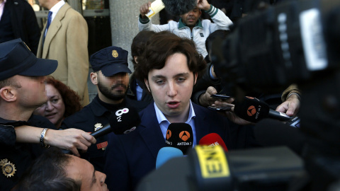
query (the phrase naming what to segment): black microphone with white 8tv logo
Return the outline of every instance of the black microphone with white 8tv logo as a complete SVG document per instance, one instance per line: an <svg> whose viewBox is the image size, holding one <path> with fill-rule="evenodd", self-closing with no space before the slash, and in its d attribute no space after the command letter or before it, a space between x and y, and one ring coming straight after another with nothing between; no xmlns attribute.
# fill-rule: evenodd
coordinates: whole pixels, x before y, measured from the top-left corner
<svg viewBox="0 0 340 191"><path fill-rule="evenodd" d="M96 132L91 133L94 138L101 137L105 134L113 132L115 134L128 134L140 125L140 115L135 108L120 108L112 112L108 117L110 125L106 125Z"/></svg>

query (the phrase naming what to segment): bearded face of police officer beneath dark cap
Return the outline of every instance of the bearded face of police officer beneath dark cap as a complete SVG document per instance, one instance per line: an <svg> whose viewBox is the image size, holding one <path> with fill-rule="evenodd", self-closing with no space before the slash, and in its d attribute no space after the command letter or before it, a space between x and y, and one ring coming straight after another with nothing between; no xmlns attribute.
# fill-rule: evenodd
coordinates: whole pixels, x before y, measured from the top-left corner
<svg viewBox="0 0 340 191"><path fill-rule="evenodd" d="M97 78L98 91L109 100L122 100L128 91L128 73L121 72L113 76L104 76L101 71Z"/></svg>

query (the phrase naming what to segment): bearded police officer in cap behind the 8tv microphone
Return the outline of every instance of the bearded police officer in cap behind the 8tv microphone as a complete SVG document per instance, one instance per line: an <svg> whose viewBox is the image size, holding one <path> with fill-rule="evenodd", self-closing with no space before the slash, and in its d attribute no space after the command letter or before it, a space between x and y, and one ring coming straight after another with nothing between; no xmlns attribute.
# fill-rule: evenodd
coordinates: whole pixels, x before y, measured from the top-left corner
<svg viewBox="0 0 340 191"><path fill-rule="evenodd" d="M77 128L85 132L95 132L109 124L111 112L125 106L140 111L147 104L126 97L128 74L131 74L128 68L128 51L120 47L107 47L91 55L90 64L94 70L90 74L91 82L97 86L98 95L82 110L67 117L62 122L62 129ZM107 135L99 137L96 145L90 146L85 154L81 154L81 158L88 160L96 170L103 172L105 164L103 154L107 145Z"/></svg>

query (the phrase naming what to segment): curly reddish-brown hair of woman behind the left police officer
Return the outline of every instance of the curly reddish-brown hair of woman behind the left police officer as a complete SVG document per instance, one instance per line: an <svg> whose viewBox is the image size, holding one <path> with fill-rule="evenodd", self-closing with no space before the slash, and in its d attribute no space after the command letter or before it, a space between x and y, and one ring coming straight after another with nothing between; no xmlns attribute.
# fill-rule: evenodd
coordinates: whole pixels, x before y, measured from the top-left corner
<svg viewBox="0 0 340 191"><path fill-rule="evenodd" d="M62 100L65 105L65 118L81 110L81 98L78 96L77 92L73 91L69 88L69 86L65 85L61 81L53 78L53 76L47 76L46 83L54 86L62 96Z"/></svg>

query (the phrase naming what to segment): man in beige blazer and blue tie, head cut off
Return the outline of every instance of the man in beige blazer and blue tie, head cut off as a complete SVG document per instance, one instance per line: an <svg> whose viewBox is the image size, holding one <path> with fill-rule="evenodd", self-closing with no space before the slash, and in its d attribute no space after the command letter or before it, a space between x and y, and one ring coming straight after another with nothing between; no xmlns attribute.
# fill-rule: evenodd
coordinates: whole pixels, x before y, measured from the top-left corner
<svg viewBox="0 0 340 191"><path fill-rule="evenodd" d="M64 0L39 0L39 4L49 10L49 15L40 36L37 57L58 61L52 76L76 91L82 99L81 105L85 106L89 104L86 21Z"/></svg>

